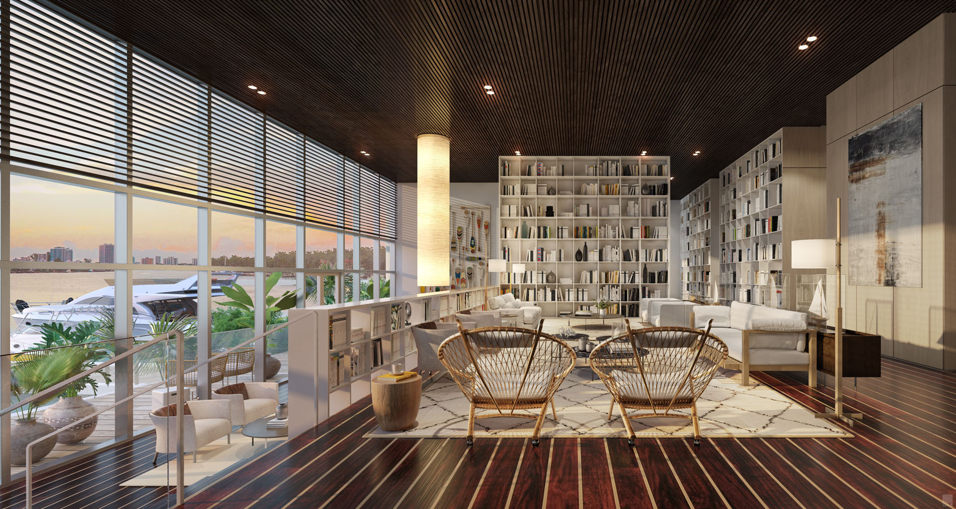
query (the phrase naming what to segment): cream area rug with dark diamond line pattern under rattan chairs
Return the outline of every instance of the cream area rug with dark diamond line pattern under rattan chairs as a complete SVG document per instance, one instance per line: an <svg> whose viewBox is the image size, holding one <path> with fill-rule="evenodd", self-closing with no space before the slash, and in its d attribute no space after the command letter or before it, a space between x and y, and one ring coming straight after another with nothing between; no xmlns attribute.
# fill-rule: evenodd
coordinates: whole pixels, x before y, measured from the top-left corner
<svg viewBox="0 0 956 509"><path fill-rule="evenodd" d="M611 395L599 380L592 380L587 368L576 368L554 395L559 421L551 409L541 436L603 437L626 436L619 409L607 419ZM712 437L849 437L829 421L793 400L763 385L741 387L732 376L738 371L719 371L697 402L701 435ZM752 381L752 378L751 378ZM755 383L755 382L754 382ZM481 411L477 414L494 414ZM636 411L632 411L636 413ZM688 411L689 413L689 411ZM464 437L467 435L468 404L458 387L447 376L429 386L422 394L418 426L405 432L385 432L376 428L366 436ZM632 420L638 437L686 437L693 435L689 419L649 418ZM528 437L534 421L515 417L497 417L475 421L475 436Z"/></svg>

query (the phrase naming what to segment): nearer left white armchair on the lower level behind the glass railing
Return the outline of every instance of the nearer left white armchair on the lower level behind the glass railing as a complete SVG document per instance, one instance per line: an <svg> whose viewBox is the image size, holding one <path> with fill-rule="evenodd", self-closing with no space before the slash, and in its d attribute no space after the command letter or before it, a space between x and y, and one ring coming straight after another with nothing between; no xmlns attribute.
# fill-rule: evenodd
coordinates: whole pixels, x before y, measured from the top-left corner
<svg viewBox="0 0 956 509"><path fill-rule="evenodd" d="M229 402L214 399L199 399L183 404L183 451L192 451L192 460L196 461L196 450L206 446L223 435L229 440L232 422L229 420ZM176 405L161 407L149 413L156 428L156 454L153 464L160 453L176 452Z"/></svg>

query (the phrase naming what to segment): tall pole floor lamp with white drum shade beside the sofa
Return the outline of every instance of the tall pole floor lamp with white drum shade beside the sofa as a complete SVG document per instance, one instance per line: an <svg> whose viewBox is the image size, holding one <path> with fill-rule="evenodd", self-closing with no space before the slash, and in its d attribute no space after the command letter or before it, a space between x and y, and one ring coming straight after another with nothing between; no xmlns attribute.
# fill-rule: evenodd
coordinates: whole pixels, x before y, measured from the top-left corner
<svg viewBox="0 0 956 509"><path fill-rule="evenodd" d="M811 239L791 243L791 268L830 268L836 266L836 345L834 348L834 412L814 414L821 419L840 419L853 426L853 419L863 414L843 412L843 303L840 290L840 199L836 199L836 241Z"/></svg>

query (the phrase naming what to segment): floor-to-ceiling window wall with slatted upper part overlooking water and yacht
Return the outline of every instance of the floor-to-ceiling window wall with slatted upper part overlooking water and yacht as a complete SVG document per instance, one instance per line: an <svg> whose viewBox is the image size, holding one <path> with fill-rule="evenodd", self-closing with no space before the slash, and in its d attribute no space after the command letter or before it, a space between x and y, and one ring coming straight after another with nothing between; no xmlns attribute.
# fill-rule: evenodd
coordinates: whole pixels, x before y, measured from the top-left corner
<svg viewBox="0 0 956 509"><path fill-rule="evenodd" d="M0 8L2 353L40 337L31 308L59 307L44 316L61 325L128 325L117 337L191 321L184 354L201 359L285 321L285 309L255 312L267 300L391 295L394 182L113 37L32 2ZM251 306L231 304L240 291ZM279 335L266 343L255 348L287 353ZM163 372L143 364L120 365L130 376L100 394ZM9 387L0 396L8 406ZM117 418L124 437L133 414Z"/></svg>

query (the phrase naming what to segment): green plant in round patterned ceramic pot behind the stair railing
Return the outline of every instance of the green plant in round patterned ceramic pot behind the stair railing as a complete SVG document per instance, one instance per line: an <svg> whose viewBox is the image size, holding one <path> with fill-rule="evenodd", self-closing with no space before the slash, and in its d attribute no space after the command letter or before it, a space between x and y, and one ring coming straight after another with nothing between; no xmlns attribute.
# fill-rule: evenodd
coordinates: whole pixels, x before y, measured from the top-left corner
<svg viewBox="0 0 956 509"><path fill-rule="evenodd" d="M41 349L69 347L53 350L54 352L66 352L64 355L71 356L71 363L62 366L64 371L59 373L61 378L56 383L89 370L96 366L98 359L106 356L107 350L98 348L96 344L91 344L91 342L100 339L98 332L101 327L102 324L98 322L83 322L72 327L64 327L63 324L59 323L40 326L41 337L43 338ZM95 374L102 377L104 384L108 385L112 381L108 371L99 371ZM84 376L67 386L63 392L58 394L59 400L43 412L44 423L56 429L65 428L63 432L56 435L57 442L61 444L76 443L93 435L93 432L97 429L98 418L84 421L76 426L70 426L77 420L97 411L93 403L86 401L79 395L87 388L92 390L94 395L97 394L99 383L94 375Z"/></svg>

